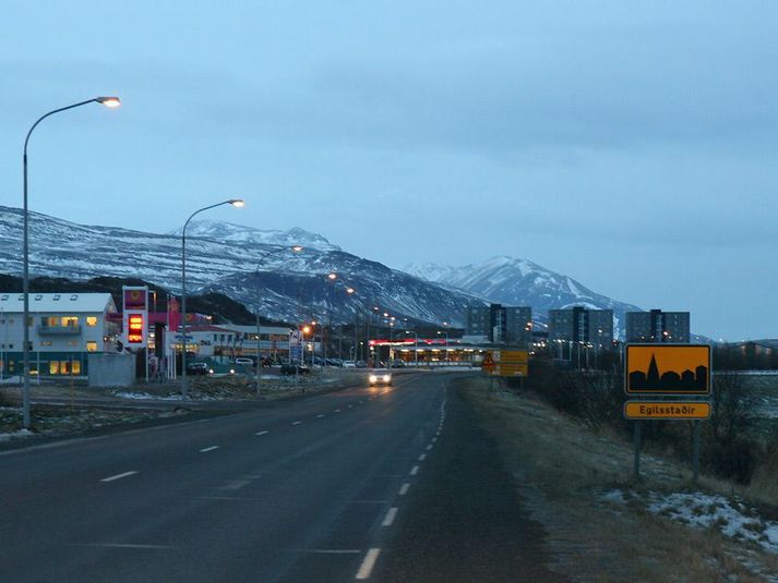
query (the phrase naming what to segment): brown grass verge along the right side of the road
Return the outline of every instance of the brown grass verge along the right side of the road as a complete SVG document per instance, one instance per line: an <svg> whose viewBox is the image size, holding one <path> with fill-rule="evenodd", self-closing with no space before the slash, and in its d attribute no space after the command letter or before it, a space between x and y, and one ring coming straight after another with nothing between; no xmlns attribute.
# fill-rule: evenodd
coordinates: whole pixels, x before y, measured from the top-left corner
<svg viewBox="0 0 778 583"><path fill-rule="evenodd" d="M463 379L458 388L546 526L553 569L575 581L778 580L778 556L728 538L716 525L692 529L647 508L651 495L701 489L745 498L747 488L707 476L694 486L690 469L658 452L642 456L635 482L631 444L612 430L595 432L527 393L488 393L483 378Z"/></svg>

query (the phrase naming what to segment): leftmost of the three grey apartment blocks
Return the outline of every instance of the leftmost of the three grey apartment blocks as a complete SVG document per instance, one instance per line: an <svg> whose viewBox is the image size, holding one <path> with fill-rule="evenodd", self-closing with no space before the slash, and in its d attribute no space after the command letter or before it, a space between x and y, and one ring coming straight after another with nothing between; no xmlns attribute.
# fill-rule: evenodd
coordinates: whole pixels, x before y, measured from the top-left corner
<svg viewBox="0 0 778 583"><path fill-rule="evenodd" d="M532 341L532 308L529 306L470 306L465 333L490 342L526 347Z"/></svg>

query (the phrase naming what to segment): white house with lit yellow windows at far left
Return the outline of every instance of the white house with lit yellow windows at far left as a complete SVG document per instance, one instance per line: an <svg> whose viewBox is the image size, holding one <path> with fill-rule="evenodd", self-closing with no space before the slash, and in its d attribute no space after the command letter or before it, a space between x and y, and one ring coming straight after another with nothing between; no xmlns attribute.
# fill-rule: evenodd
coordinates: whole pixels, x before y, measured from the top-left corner
<svg viewBox="0 0 778 583"><path fill-rule="evenodd" d="M24 294L0 292L0 371L22 373ZM117 351L121 319L109 293L29 294L31 374L87 374L91 353Z"/></svg>

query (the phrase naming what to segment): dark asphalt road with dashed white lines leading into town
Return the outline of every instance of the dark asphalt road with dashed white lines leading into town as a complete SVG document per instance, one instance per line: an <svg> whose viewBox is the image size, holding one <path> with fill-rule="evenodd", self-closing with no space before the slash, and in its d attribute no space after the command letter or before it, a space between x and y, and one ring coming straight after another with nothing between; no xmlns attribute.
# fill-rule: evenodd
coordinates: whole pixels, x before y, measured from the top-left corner
<svg viewBox="0 0 778 583"><path fill-rule="evenodd" d="M447 551L419 558L408 542L450 529L424 514L430 493L452 473L455 435L480 438L450 378L411 375L386 390L0 452L0 581L433 580ZM470 462L482 451L471 448ZM504 476L481 479L484 467L470 462L454 469L474 479L445 486L447 496L474 484L487 498L504 490ZM506 527L531 526L510 515ZM481 518L458 518L451 541ZM531 527L516 548L537 558ZM482 531L472 535L483 560L515 559Z"/></svg>

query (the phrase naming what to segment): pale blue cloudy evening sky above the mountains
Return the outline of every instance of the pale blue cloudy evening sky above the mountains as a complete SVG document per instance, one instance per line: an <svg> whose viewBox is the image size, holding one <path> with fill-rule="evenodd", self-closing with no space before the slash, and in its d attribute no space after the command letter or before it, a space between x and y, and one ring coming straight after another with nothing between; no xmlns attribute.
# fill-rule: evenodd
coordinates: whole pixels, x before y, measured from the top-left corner
<svg viewBox="0 0 778 583"><path fill-rule="evenodd" d="M16 1L0 204L301 227L402 268L523 257L778 337L778 4Z"/></svg>

